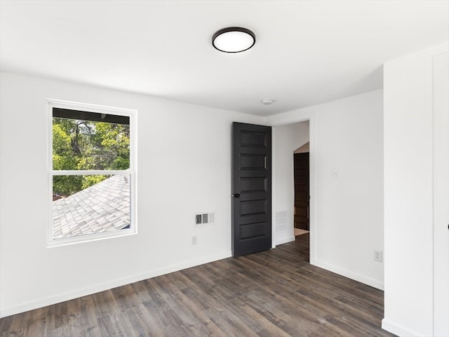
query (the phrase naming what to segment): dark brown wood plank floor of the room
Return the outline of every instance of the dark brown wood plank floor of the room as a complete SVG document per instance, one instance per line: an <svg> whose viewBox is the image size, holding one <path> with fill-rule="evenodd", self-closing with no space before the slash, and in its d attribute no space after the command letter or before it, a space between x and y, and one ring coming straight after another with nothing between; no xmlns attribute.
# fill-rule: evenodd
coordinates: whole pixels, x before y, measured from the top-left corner
<svg viewBox="0 0 449 337"><path fill-rule="evenodd" d="M309 265L309 234L0 319L0 336L394 336L383 292Z"/></svg>

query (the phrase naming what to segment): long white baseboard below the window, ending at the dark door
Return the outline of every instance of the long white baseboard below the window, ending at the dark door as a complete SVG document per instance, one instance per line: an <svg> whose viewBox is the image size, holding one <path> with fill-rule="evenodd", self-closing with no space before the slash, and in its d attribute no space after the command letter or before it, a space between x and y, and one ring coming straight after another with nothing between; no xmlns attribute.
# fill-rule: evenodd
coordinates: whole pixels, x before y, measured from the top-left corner
<svg viewBox="0 0 449 337"><path fill-rule="evenodd" d="M32 300L27 303L21 303L19 305L13 305L9 308L4 308L0 310L0 318L18 314L20 312L25 312L29 310L34 310L37 308L46 307L47 305L53 305L56 303L61 303L66 300L72 300L74 298L79 298L82 296L91 295L93 293L98 293L100 291L105 291L108 289L116 288L117 286L124 286L126 284L142 281L143 279L151 279L152 277L166 275L170 272L177 272L178 270L183 270L189 267L194 267L196 265L203 265L204 263L210 263L217 260L222 260L224 258L230 258L232 252L217 254L215 256L208 256L207 258L199 258L196 260L189 260L184 263L179 263L176 265L170 265L168 267L159 268L156 270L150 270L148 272L142 273L140 275L133 275L130 277L123 277L122 279L116 279L111 282L105 282L102 284L95 284L83 289L76 289L74 291L68 291L66 293L60 293L55 296L41 298L39 300Z"/></svg>

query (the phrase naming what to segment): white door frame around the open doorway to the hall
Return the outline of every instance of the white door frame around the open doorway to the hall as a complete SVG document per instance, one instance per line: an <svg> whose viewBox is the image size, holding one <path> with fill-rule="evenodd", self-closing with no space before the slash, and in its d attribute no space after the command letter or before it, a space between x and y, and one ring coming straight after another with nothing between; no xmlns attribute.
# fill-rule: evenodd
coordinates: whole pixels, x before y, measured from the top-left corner
<svg viewBox="0 0 449 337"><path fill-rule="evenodd" d="M316 264L316 118L314 110L304 109L301 114L293 116L293 118L286 119L278 123L269 124L272 126L272 158L276 156L276 126L283 126L288 124L295 124L301 121L309 121L309 229L310 229L310 243L309 243L309 263L311 265ZM276 161L272 161L272 191L276 191ZM276 209L276 194L272 194L272 210ZM272 211L272 248L276 247L276 212Z"/></svg>

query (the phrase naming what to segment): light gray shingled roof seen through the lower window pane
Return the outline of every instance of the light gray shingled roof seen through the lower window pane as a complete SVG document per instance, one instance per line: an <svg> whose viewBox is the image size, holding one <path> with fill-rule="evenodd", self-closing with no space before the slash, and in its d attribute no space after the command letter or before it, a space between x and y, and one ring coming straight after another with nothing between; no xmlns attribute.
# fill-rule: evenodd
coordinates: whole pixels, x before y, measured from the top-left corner
<svg viewBox="0 0 449 337"><path fill-rule="evenodd" d="M112 176L53 201L53 239L121 230L129 225L129 176Z"/></svg>

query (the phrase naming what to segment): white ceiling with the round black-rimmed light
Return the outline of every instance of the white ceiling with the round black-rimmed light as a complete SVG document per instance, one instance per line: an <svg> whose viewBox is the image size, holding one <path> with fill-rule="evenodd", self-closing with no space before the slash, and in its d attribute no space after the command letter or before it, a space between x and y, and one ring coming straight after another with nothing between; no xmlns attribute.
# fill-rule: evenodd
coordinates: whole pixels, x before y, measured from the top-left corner
<svg viewBox="0 0 449 337"><path fill-rule="evenodd" d="M0 6L1 70L262 116L381 88L383 62L449 39L448 0ZM255 46L215 50L229 26L253 30Z"/></svg>

